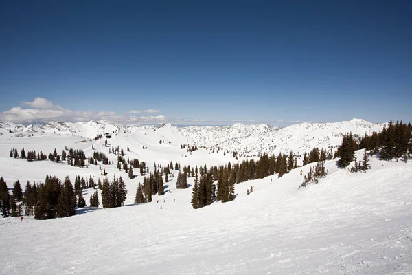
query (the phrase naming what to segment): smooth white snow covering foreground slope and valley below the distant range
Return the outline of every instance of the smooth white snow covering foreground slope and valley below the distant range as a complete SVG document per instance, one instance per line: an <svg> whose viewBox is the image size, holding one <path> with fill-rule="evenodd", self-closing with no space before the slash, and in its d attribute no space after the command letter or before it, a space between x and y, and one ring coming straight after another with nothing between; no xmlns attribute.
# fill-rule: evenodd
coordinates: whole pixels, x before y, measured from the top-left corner
<svg viewBox="0 0 412 275"><path fill-rule="evenodd" d="M150 170L171 160L208 167L234 160L205 149L187 153L177 145L182 135L172 135L175 130L145 126L118 131L108 142L130 146L126 157L147 162ZM76 175L92 175L95 181L101 177L98 166L75 168L8 155L11 147L23 146L26 153L35 149L48 154L54 148L60 153L67 146L91 155L92 144L107 154L104 139L10 135L0 137L0 176L9 187L16 179L22 187L27 179L44 181L46 174L72 180ZM165 143L159 144L161 135ZM357 155L361 159L363 151ZM335 161L326 162L328 176L317 185L299 189L304 177L300 170L308 173L307 165L279 179L273 175L236 184L234 201L197 210L190 204L192 187L177 190L176 177L165 195L134 205L143 177L128 179L115 164L102 165L109 178L124 177L125 206L103 209L100 204L47 221L0 219L0 274L412 274L412 162L372 157L367 173L350 173L336 168ZM193 178L188 182L193 184ZM254 192L247 196L250 186ZM87 203L92 192L84 190Z"/></svg>

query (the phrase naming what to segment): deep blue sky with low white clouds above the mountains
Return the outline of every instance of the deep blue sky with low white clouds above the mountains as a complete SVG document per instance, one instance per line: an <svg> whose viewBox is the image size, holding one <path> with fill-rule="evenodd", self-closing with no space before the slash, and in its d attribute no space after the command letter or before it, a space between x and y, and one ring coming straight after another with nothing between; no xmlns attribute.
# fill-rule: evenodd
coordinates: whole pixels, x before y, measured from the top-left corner
<svg viewBox="0 0 412 275"><path fill-rule="evenodd" d="M409 121L411 9L411 1L6 1L0 119Z"/></svg>

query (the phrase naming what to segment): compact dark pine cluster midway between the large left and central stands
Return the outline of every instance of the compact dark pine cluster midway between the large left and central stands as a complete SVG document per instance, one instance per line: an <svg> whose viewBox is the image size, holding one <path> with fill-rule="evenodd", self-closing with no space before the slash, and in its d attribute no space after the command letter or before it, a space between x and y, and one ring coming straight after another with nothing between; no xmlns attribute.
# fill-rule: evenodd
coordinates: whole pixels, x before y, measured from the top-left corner
<svg viewBox="0 0 412 275"><path fill-rule="evenodd" d="M102 184L102 206L103 208L113 208L122 206L127 199L126 185L122 177L118 179L113 177L109 181L107 177L104 178Z"/></svg>

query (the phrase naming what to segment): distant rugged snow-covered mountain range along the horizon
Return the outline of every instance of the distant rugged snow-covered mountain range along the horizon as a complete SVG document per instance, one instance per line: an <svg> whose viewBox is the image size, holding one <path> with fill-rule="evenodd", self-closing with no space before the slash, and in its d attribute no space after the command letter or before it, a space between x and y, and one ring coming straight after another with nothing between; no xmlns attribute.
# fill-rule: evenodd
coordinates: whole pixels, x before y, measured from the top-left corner
<svg viewBox="0 0 412 275"><path fill-rule="evenodd" d="M133 134L136 139L145 139L150 142L165 140L174 146L190 144L205 146L211 150L222 148L228 152L237 152L238 155L251 157L260 153L304 153L314 147L334 148L341 144L342 135L352 131L354 135L371 134L380 131L384 124L374 124L361 119L353 119L334 123L294 124L285 128L271 127L266 124L232 126L186 126L177 127L171 124L161 126L119 125L108 120L89 122L47 122L28 126L0 122L2 133L11 129L12 136L22 134L58 134L75 135L93 138L96 135Z"/></svg>

